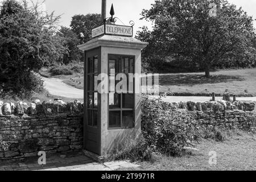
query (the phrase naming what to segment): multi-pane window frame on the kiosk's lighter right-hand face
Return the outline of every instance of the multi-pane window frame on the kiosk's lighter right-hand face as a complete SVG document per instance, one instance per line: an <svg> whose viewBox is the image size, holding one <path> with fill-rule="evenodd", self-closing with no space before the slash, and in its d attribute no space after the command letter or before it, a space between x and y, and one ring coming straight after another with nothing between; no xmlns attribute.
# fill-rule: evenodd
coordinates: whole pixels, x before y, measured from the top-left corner
<svg viewBox="0 0 256 182"><path fill-rule="evenodd" d="M110 72L109 72L109 64L110 64L110 58L111 57L118 57L118 59L121 57L121 59L125 59L125 57L129 57L129 60L130 59L133 59L133 61L134 61L134 68L133 68L133 73L124 73L125 75L129 75L129 74L135 74L135 55L121 55L121 54L108 54L108 76L110 76ZM120 67L121 67L121 73L122 73L122 63L120 63ZM116 75L115 75L115 77L116 77ZM128 81L128 80L127 80ZM115 84L115 86L116 86L116 84ZM133 130L133 129L135 129L135 78L133 77L133 109L123 109L123 93L121 93L120 95L120 97L121 97L121 103L120 103L120 105L121 105L121 107L119 108L119 109L110 109L109 108L109 94L110 93L108 93L108 130ZM129 88L127 88L127 89L129 89ZM110 90L110 88L109 88L109 90ZM129 94L129 93L128 93ZM110 127L109 126L109 117L110 117L110 111L120 111L120 119L121 119L121 127ZM134 123L134 127L133 128L130 128L130 129L125 129L125 128L123 128L123 122L122 122L122 120L123 120L123 111L133 111L133 123Z"/></svg>

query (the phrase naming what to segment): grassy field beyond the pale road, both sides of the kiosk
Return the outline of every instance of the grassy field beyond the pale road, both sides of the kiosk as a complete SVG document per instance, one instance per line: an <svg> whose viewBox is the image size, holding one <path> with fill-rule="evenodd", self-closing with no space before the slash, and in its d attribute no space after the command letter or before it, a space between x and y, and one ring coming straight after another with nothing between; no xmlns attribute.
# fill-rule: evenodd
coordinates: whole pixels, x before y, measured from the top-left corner
<svg viewBox="0 0 256 182"><path fill-rule="evenodd" d="M84 89L82 74L58 78ZM222 95L227 91L238 97L256 96L256 68L220 70L211 72L210 78L205 78L204 73L161 74L159 78L160 92L172 92L176 96L209 96L213 92Z"/></svg>

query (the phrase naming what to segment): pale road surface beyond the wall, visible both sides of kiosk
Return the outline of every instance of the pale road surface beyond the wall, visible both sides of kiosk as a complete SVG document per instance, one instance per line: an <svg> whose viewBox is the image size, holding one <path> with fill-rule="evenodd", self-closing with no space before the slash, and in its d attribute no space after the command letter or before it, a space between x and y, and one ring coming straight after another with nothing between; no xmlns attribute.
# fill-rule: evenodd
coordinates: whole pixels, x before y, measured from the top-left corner
<svg viewBox="0 0 256 182"><path fill-rule="evenodd" d="M44 78L44 86L53 96L67 97L67 98L84 98L84 90L76 89L73 86L64 84L64 82L57 78ZM211 97L183 97L183 96L168 96L163 98L166 102L205 102L210 101ZM221 100L222 97L216 97L216 100ZM256 97L237 97L237 101L254 101Z"/></svg>

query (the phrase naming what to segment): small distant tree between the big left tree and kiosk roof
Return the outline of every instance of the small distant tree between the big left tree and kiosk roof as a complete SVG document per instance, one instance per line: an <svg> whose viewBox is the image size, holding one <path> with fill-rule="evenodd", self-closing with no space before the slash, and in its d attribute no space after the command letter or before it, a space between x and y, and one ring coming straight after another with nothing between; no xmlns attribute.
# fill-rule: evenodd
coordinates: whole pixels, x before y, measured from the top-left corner
<svg viewBox="0 0 256 182"><path fill-rule="evenodd" d="M64 46L68 47L68 53L63 56L63 63L68 64L71 63L71 61L80 61L82 52L77 48L80 40L77 38L75 32L70 28L61 27L59 35L64 38Z"/></svg>

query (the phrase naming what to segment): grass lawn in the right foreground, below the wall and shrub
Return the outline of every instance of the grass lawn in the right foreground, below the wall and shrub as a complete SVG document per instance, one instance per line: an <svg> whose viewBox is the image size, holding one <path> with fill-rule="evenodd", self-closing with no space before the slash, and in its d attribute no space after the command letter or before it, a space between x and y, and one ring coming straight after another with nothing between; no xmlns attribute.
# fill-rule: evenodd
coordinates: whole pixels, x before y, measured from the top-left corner
<svg viewBox="0 0 256 182"><path fill-rule="evenodd" d="M253 171L256 170L256 137L242 134L225 142L202 140L196 146L199 151L181 158L155 156L154 163L139 163L141 167L120 170L156 171ZM217 164L209 164L209 152L216 151Z"/></svg>

